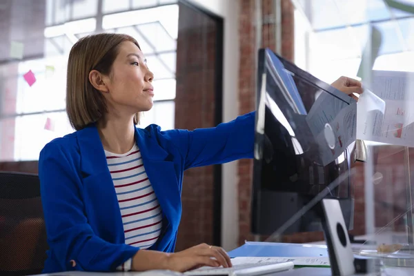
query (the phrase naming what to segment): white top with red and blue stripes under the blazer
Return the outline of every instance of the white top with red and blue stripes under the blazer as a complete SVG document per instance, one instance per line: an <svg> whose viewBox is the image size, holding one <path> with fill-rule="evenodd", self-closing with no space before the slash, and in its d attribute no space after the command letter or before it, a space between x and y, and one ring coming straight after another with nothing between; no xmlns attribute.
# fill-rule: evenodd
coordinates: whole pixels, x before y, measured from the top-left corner
<svg viewBox="0 0 414 276"><path fill-rule="evenodd" d="M125 243L141 249L149 248L161 233L162 215L146 175L141 152L135 144L122 155L106 150L105 155L121 209ZM130 261L119 266L118 270L130 270Z"/></svg>

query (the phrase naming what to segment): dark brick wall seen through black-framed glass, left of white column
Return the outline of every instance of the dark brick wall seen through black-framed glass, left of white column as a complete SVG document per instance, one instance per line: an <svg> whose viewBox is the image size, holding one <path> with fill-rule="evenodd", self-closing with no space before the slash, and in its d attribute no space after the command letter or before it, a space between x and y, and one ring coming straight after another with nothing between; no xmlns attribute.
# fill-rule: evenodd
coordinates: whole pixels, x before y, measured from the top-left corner
<svg viewBox="0 0 414 276"><path fill-rule="evenodd" d="M216 32L213 19L180 4L175 128L215 126ZM185 172L176 250L213 243L213 177L213 166Z"/></svg>

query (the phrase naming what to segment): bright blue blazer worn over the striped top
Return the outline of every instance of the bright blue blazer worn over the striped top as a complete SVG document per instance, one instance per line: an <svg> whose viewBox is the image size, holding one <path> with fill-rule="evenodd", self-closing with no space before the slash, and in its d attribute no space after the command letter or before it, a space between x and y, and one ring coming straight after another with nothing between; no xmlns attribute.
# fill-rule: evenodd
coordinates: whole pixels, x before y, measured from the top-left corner
<svg viewBox="0 0 414 276"><path fill-rule="evenodd" d="M174 251L184 170L253 158L254 128L251 112L215 128L135 129L164 220L161 236L150 249ZM115 270L137 253L139 248L125 244L117 195L95 125L47 144L39 157L39 177L50 248L44 273Z"/></svg>

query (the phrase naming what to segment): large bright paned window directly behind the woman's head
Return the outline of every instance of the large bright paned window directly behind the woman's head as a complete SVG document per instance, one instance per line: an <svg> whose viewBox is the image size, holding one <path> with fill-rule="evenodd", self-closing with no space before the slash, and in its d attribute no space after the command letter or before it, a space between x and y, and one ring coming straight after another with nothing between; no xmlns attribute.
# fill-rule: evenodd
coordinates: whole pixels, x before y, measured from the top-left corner
<svg viewBox="0 0 414 276"><path fill-rule="evenodd" d="M65 110L68 55L78 39L97 30L137 39L155 74L154 107L144 112L138 127L174 128L177 1L114 3L104 0L98 12L98 0L46 1L46 28L39 32L43 33L41 58L0 66L10 72L2 81L6 92L0 95L0 161L37 159L45 144L74 131ZM26 81L28 73L36 79L34 83Z"/></svg>

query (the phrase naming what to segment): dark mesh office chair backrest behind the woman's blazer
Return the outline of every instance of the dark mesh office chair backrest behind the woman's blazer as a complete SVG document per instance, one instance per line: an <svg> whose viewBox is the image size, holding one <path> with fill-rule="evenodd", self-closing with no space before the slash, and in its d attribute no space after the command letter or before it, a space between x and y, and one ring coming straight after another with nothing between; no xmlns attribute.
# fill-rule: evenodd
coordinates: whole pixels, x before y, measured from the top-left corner
<svg viewBox="0 0 414 276"><path fill-rule="evenodd" d="M0 275L41 273L47 249L39 177L0 172Z"/></svg>

